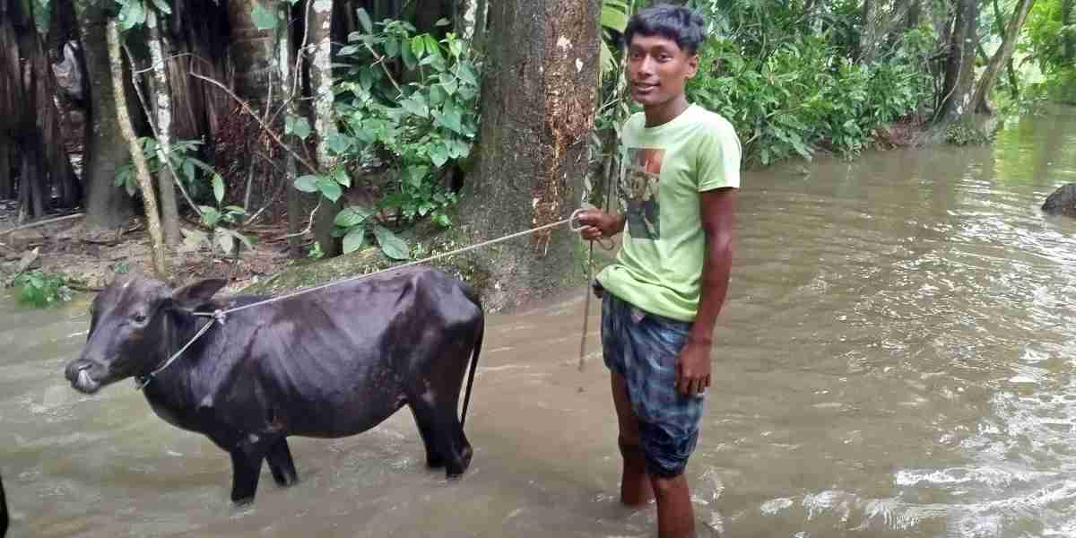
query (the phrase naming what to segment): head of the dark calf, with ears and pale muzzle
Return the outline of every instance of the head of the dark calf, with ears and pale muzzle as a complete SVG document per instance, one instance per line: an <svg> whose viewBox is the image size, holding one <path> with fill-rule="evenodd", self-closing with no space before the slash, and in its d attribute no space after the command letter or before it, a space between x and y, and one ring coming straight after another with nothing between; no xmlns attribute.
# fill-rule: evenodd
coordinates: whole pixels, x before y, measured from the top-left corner
<svg viewBox="0 0 1076 538"><path fill-rule="evenodd" d="M224 280L203 280L172 289L142 275L121 275L94 298L89 336L65 376L75 390L93 394L102 386L144 376L160 366L173 345L176 325L208 302ZM182 342L181 342L182 344Z"/></svg>

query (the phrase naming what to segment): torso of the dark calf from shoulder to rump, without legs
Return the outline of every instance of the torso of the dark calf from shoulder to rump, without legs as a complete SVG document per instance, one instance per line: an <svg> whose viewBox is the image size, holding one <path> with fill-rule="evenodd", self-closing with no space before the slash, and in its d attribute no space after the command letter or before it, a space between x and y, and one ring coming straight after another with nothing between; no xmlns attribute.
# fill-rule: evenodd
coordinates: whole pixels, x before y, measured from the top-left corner
<svg viewBox="0 0 1076 538"><path fill-rule="evenodd" d="M428 268L240 313L253 328L246 365L237 367L257 373L237 376L232 390L268 408L258 414L277 427L314 437L368 429L431 381L462 376L483 323L473 292Z"/></svg>

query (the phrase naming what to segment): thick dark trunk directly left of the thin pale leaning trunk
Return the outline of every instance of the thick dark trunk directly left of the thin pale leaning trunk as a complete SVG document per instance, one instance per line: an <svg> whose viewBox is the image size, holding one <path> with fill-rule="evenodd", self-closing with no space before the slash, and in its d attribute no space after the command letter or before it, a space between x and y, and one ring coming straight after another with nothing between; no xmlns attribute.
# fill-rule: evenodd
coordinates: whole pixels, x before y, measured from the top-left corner
<svg viewBox="0 0 1076 538"><path fill-rule="evenodd" d="M75 8L89 83L82 172L86 188L86 224L96 228L118 228L133 210L127 193L113 186L116 168L127 160L127 150L116 117L105 38L107 15L98 2L89 0L76 0Z"/></svg>

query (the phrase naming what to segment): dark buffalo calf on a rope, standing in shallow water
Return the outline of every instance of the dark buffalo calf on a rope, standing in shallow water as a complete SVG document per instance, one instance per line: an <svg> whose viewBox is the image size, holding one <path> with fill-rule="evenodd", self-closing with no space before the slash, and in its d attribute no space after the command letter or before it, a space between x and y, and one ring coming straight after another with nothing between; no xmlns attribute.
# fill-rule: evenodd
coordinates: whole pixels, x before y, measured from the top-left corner
<svg viewBox="0 0 1076 538"><path fill-rule="evenodd" d="M467 469L472 452L463 422L485 323L470 288L409 268L257 305L228 314L147 377L215 323L194 312L265 299L214 300L224 285L207 280L173 291L145 277L117 278L94 299L86 345L67 379L87 394L131 377L147 382L143 392L158 416L231 455L237 504L254 499L263 459L278 484L296 481L287 436L358 434L405 405L427 464L445 467L449 478Z"/></svg>

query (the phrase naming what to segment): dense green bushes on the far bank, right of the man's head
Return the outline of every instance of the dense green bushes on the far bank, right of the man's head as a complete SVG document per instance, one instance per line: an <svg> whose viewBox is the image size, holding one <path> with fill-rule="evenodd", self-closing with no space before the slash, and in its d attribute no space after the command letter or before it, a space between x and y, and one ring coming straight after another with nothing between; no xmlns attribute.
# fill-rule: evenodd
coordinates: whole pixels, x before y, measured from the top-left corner
<svg viewBox="0 0 1076 538"><path fill-rule="evenodd" d="M765 56L745 55L740 43L712 34L688 94L733 123L745 161L809 159L817 146L853 156L876 128L930 98L931 79L921 66L931 45L929 31L909 31L863 65L844 55L830 33L782 39Z"/></svg>

